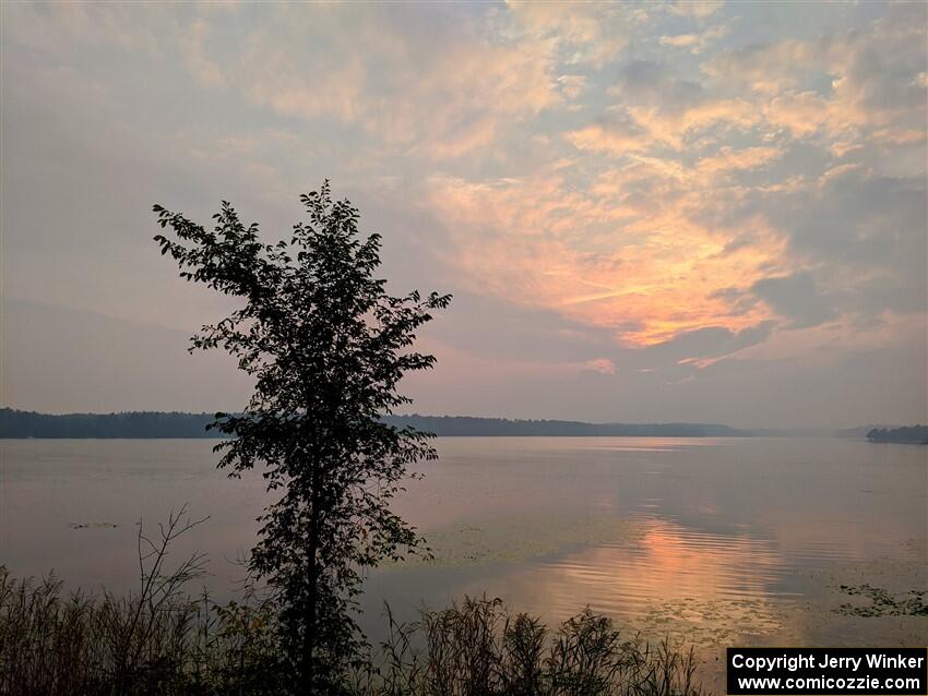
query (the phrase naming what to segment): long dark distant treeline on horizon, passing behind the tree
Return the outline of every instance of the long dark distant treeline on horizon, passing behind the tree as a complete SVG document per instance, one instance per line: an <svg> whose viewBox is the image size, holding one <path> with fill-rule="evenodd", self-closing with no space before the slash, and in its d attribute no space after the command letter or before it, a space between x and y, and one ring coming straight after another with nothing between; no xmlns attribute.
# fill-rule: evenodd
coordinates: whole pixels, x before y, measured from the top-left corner
<svg viewBox="0 0 928 696"><path fill-rule="evenodd" d="M0 409L0 437L190 439L219 437L206 430L213 413L131 411L123 413L38 413ZM389 416L392 425L412 425L440 436L627 436L723 437L754 433L701 423L585 423L563 420L510 420L467 416Z"/></svg>

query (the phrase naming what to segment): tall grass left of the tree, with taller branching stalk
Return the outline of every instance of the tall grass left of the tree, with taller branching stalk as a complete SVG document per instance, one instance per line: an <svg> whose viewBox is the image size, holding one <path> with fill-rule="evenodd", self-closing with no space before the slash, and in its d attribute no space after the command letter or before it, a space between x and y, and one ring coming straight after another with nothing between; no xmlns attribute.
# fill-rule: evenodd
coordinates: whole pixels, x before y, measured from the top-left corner
<svg viewBox="0 0 928 696"><path fill-rule="evenodd" d="M170 543L199 524L181 509L158 536L139 531L140 589L126 597L62 592L55 577L16 580L0 566L0 694L135 696L276 689L275 611L191 597L203 556L168 571Z"/></svg>

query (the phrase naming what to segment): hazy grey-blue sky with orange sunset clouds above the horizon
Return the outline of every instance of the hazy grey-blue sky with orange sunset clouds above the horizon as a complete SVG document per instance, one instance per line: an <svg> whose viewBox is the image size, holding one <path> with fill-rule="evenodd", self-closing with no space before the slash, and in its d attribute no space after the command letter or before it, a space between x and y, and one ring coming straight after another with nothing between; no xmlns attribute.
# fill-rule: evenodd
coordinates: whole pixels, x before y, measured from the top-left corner
<svg viewBox="0 0 928 696"><path fill-rule="evenodd" d="M331 179L452 292L411 411L928 420L928 4L3 3L4 406L216 410L152 204Z"/></svg>

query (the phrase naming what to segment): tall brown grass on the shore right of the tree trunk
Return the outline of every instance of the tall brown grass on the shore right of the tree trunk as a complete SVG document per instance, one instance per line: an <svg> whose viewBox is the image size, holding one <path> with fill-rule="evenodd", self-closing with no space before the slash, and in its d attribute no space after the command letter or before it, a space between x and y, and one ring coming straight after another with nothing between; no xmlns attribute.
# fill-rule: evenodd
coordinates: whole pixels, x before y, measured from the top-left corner
<svg viewBox="0 0 928 696"><path fill-rule="evenodd" d="M377 696L700 696L692 648L622 639L590 609L549 632L499 599L471 599L398 623L364 692Z"/></svg>

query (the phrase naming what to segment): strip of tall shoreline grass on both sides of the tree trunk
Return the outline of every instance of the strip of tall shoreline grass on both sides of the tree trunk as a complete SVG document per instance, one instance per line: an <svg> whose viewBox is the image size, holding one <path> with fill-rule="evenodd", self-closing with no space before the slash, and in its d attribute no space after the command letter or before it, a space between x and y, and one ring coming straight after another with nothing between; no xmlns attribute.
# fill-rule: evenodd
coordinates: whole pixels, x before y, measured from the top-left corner
<svg viewBox="0 0 928 696"><path fill-rule="evenodd" d="M590 610L555 631L500 600L423 610L389 635L346 696L697 696L692 650L623 640ZM172 592L66 596L0 568L0 694L306 694L281 659L276 608ZM322 693L317 691L316 693ZM325 693L336 693L328 691Z"/></svg>

